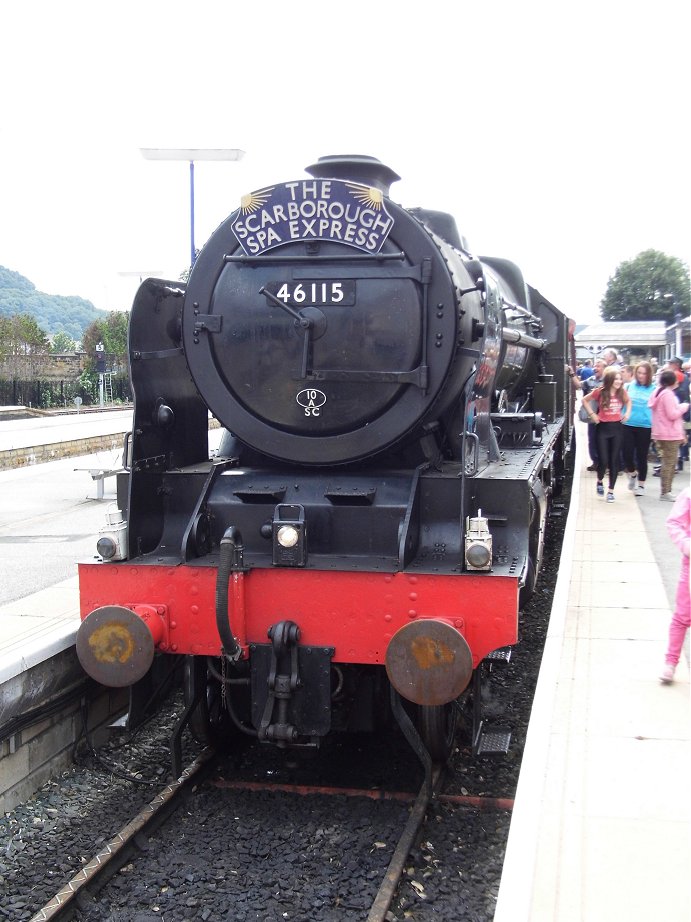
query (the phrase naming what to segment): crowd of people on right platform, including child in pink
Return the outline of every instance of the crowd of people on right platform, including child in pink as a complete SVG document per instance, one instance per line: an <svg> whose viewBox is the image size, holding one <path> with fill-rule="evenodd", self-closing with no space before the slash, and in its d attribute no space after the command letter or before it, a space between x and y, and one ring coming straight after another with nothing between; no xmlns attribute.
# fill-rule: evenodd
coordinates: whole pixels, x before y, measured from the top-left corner
<svg viewBox="0 0 691 922"><path fill-rule="evenodd" d="M624 473L634 496L644 496L648 472L660 478L660 500L674 503L667 517L667 529L682 555L674 611L660 681L674 681L684 638L691 627L691 487L678 496L672 493L675 474L689 462L691 414L689 385L691 363L669 359L662 367L642 361L624 363L613 349L606 349L594 362L586 360L575 371L574 386L582 391L588 414L589 471L596 472L595 489L607 502L614 502L614 488ZM686 478L688 482L688 477Z"/></svg>

